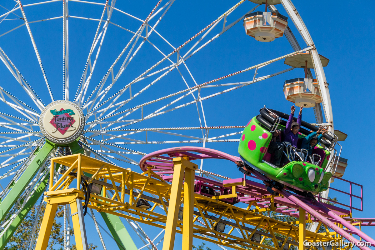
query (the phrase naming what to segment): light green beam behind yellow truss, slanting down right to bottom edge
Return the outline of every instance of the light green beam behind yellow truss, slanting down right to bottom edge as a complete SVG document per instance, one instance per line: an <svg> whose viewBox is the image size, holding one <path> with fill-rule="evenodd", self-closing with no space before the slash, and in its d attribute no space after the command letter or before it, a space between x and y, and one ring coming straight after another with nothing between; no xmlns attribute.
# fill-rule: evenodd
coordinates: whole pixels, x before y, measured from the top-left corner
<svg viewBox="0 0 375 250"><path fill-rule="evenodd" d="M107 224L108 229L110 229L112 237L117 243L118 249L138 250L126 228L124 227L124 224L121 222L120 217L104 212L101 212L100 214L102 215L105 224Z"/></svg>

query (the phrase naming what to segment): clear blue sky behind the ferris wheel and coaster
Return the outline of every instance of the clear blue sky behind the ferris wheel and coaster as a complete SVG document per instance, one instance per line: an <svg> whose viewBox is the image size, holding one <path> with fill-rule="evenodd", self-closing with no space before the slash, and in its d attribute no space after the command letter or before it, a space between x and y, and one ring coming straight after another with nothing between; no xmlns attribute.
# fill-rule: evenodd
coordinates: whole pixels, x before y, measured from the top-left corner
<svg viewBox="0 0 375 250"><path fill-rule="evenodd" d="M24 1L23 4L35 1ZM7 9L14 6L10 0L1 0L1 5ZM222 13L234 6L236 1L182 1L177 0L160 21L156 30L171 43L174 47L181 45L202 28L210 24ZM131 15L144 19L150 13L156 1L117 1L116 7ZM162 2L164 4L164 1ZM371 124L374 124L374 59L371 57L374 51L374 18L371 10L374 3L358 5L353 1L295 1L294 5L303 18L308 30L314 40L319 54L330 59L327 67L324 68L327 82L329 83L330 97L332 101L333 117L335 129L348 134L348 138L342 142L343 150L341 156L348 159L348 167L344 178L363 185L363 212L355 211L353 217L374 217L372 212L375 202L372 199L372 180L375 176L373 167L374 142L370 137L372 134ZM255 7L255 4L246 1L238 7L227 18L227 24ZM280 12L287 15L281 5L276 6ZM89 18L100 18L102 6L82 3L69 3L69 14L72 16L84 16ZM263 11L264 6L257 9ZM4 9L1 10L4 13ZM28 21L35 21L43 18L60 16L62 14L61 2L51 3L46 7L25 7ZM21 15L20 11L16 12ZM8 18L17 18L8 16ZM121 13L114 12L111 19L114 23L130 30L137 30L140 21L134 20ZM151 21L154 24L156 18ZM23 23L22 20L3 21L0 24L0 34L17 27ZM301 47L305 46L293 22L288 18L288 23L297 37ZM201 84L220 76L245 69L258 63L293 52L285 37L276 39L270 43L255 41L254 38L246 36L243 22L240 21L233 28L226 31L222 36L201 49L186 61L190 72L198 84ZM87 55L98 26L98 21L69 18L69 53L70 53L70 81L71 95L74 97L78 82L86 63ZM39 49L40 57L45 67L46 75L51 84L55 99L62 98L62 19L52 21L37 22L30 24L36 45ZM222 21L206 37L206 40L213 37L222 29ZM144 33L142 34L144 35ZM105 72L113 63L132 34L121 30L114 25L110 25L104 40L101 54L93 74L90 90L103 77ZM156 34L150 36L153 42L164 54L173 51ZM139 41L140 42L140 41ZM138 44L139 44L138 42ZM37 63L36 56L28 36L26 27L18 28L0 37L0 46L18 67L28 82L33 86L39 96L47 104L51 100L46 90L45 82ZM181 54L187 51L185 48ZM163 56L154 49L150 43L145 45L131 61L127 69L119 78L113 91L117 91L138 75L143 73ZM172 61L176 57L171 57ZM123 59L122 59L123 60ZM162 64L169 65L169 62ZM118 70L119 65L117 65ZM269 75L286 69L283 60L273 63L258 70L257 76ZM194 82L190 78L186 69L180 66L189 86ZM251 81L254 70L242 73L220 81L219 83L231 83L239 81ZM229 93L212 97L203 102L205 118L208 126L230 126L246 125L247 122L258 114L258 110L266 105L267 107L278 109L285 113L290 112L292 103L285 100L283 90L284 81L287 79L303 77L302 69L294 69L282 75L275 76L265 81L249 85ZM0 64L0 85L11 93L16 94L20 99L31 103L27 95L18 91L17 82L3 64ZM151 79L151 78L150 78ZM154 78L152 78L154 79ZM146 81L146 80L145 80ZM147 82L147 84L150 81ZM133 91L138 91L145 86L145 83L134 85ZM176 70L160 79L156 84L134 99L129 105L135 106L150 100L157 99L167 94L174 93L186 88L181 76ZM219 88L224 90L224 88ZM207 94L214 93L214 90L205 90ZM190 98L190 99L187 99ZM192 97L186 97L186 103ZM164 105L164 102L161 102ZM159 105L162 106L162 105ZM150 112L157 107L151 108ZM130 107L130 106L129 106ZM4 110L8 110L4 107ZM12 112L12 111L9 111ZM311 123L315 122L312 109L305 109L303 120ZM134 128L140 127L190 127L200 126L196 112L196 106L190 105L167 114L146 120ZM229 130L228 130L229 131ZM199 136L199 133L196 136ZM214 132L213 132L214 133ZM367 135L369 133L369 135ZM155 136L155 139L163 138ZM201 144L194 144L201 146ZM131 145L134 150L150 153L166 147L174 147L171 144L159 145ZM237 143L211 143L206 147L224 151L237 155ZM139 159L138 159L139 160ZM124 163L124 167L129 167ZM132 167L136 171L135 167ZM205 162L204 168L208 171L215 171L228 177L239 177L240 172L233 171L233 165L217 162ZM335 186L337 185L337 186ZM348 187L338 182L333 183L333 187L348 190ZM333 193L332 193L333 195ZM347 202L347 198L339 196L339 199ZM99 217L99 216L98 216ZM92 222L87 222L89 225ZM91 224L90 224L91 223ZM104 222L102 222L104 224ZM131 229L128 228L130 231ZM152 229L149 229L152 230ZM374 229L363 229L369 235L374 235ZM94 232L96 234L96 232ZM105 234L103 232L103 234ZM131 232L137 246L141 246L139 238ZM154 235L151 233L151 235ZM104 235L105 236L105 235ZM108 238L107 236L105 236ZM100 246L95 236L89 235L91 242ZM177 237L176 244L180 244L181 237ZM111 242L108 240L108 242ZM194 240L195 244L199 241ZM108 247L108 246L107 246ZM211 247L216 249L216 246ZM176 249L178 249L176 245Z"/></svg>

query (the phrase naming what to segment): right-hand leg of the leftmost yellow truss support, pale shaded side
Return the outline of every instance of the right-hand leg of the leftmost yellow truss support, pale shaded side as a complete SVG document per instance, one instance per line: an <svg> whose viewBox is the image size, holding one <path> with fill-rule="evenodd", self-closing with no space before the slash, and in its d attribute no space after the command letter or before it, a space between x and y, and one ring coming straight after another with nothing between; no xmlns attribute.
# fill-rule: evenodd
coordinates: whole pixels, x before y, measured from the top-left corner
<svg viewBox="0 0 375 250"><path fill-rule="evenodd" d="M69 202L71 207L74 238L77 250L88 250L85 223L83 220L82 203L80 199Z"/></svg>

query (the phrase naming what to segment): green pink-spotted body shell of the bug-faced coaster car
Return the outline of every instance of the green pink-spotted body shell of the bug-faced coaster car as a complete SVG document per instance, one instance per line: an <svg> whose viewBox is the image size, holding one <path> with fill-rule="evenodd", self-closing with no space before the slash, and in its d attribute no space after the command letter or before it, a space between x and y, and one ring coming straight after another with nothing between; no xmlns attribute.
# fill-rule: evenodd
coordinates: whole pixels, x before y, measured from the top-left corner
<svg viewBox="0 0 375 250"><path fill-rule="evenodd" d="M283 130L285 127L278 124L277 128ZM299 134L301 139L305 136ZM272 133L269 129L265 128L257 117L252 118L240 138L238 152L242 160L258 172L293 189L314 194L328 189L328 182L332 177L331 172L324 171L330 158L328 150L324 150L320 145L317 146L325 153L320 166L294 160L278 167L264 160L271 139Z"/></svg>

